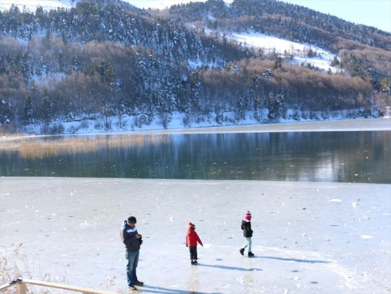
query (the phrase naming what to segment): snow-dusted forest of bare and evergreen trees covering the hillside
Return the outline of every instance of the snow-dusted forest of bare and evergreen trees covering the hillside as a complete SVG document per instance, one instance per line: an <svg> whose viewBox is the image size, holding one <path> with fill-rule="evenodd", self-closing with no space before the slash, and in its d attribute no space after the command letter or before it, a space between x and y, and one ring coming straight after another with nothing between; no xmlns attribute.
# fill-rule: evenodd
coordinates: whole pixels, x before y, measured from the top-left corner
<svg viewBox="0 0 391 294"><path fill-rule="evenodd" d="M159 116L167 127L174 111L183 113L184 126L203 115L212 115L220 123L226 111L235 113L232 123L244 119L246 112L262 123L280 118L325 119L332 111L368 117L373 109L389 105L390 34L362 26L362 37L357 39L357 34L349 33L356 30L354 25L339 19L332 27L319 28L338 42L322 37L311 39L313 44L333 50L339 56L335 66L343 69L337 74L322 72L291 65L289 56L207 35L203 27L184 22L185 18L205 21L206 27L219 30L245 23L253 31L263 23L263 33L268 27L286 38L287 32L297 32L292 19L300 16L300 10L290 20L275 22L278 18L265 7L276 4L275 9L287 14L279 2L263 0L265 7L254 5L264 7L262 13L255 8L248 11L243 1L236 0L228 11L221 3L209 0L152 13L121 1L82 0L72 9L29 12L12 6L0 12L3 130L140 114L139 125ZM197 10L200 5L205 6ZM204 16L214 6L218 23ZM270 23L264 21L268 15L273 15ZM301 36L309 38L316 30Z"/></svg>

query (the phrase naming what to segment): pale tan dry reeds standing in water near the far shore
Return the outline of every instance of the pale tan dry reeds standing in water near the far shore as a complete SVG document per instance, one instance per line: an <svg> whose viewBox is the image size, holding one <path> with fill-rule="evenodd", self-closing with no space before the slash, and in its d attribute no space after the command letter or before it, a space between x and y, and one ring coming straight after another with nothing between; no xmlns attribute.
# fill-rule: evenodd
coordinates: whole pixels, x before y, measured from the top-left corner
<svg viewBox="0 0 391 294"><path fill-rule="evenodd" d="M18 151L22 158L43 158L96 152L99 149L141 147L145 144L164 143L168 135L107 135L59 139L21 141Z"/></svg>

